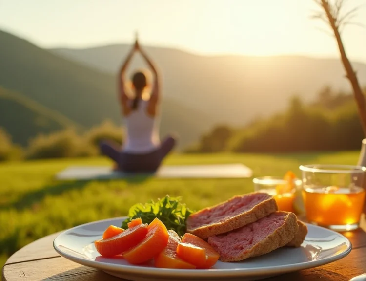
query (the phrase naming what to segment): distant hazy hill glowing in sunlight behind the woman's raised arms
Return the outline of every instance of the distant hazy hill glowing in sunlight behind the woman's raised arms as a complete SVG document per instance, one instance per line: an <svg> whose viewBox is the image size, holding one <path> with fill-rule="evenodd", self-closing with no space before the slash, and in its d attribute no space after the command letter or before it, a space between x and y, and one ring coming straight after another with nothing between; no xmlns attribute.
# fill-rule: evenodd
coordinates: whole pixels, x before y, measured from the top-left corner
<svg viewBox="0 0 366 281"><path fill-rule="evenodd" d="M51 51L95 69L116 73L130 46L126 44ZM311 101L325 85L349 88L336 59L301 56L199 56L177 49L149 47L148 53L164 74L164 93L201 110L217 122L243 124L258 115L285 108L294 93ZM140 57L131 69L143 66ZM354 63L366 85L366 65Z"/></svg>

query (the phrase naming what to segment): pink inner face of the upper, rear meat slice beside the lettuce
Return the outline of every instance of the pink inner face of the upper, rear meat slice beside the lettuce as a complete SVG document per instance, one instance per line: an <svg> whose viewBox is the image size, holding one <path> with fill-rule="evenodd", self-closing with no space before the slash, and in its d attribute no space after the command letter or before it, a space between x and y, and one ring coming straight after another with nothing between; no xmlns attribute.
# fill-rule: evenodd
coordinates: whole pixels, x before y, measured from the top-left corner
<svg viewBox="0 0 366 281"><path fill-rule="evenodd" d="M229 217L249 211L254 206L270 197L271 196L266 193L254 193L233 198L229 202L205 210L197 216L191 216L189 218L189 227L195 229L211 223L225 221Z"/></svg>

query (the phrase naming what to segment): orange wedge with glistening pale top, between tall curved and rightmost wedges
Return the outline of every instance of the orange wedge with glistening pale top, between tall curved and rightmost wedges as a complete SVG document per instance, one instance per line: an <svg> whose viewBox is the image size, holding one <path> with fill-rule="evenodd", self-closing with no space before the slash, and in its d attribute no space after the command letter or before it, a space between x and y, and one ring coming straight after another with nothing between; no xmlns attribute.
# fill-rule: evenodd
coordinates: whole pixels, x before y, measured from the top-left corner
<svg viewBox="0 0 366 281"><path fill-rule="evenodd" d="M169 240L165 249L154 258L155 267L160 268L179 268L179 269L195 269L196 266L190 264L177 256L177 247L181 238L178 234L169 230Z"/></svg>

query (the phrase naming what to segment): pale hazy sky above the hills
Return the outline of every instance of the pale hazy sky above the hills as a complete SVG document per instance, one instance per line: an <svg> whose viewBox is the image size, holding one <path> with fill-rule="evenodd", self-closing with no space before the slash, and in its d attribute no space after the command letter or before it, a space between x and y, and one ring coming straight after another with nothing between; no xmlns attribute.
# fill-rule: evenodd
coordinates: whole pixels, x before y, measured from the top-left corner
<svg viewBox="0 0 366 281"><path fill-rule="evenodd" d="M354 21L366 25L365 4ZM337 56L332 37L311 20L313 0L0 0L0 29L42 47L129 43L201 54ZM366 62L366 28L346 27L346 51Z"/></svg>

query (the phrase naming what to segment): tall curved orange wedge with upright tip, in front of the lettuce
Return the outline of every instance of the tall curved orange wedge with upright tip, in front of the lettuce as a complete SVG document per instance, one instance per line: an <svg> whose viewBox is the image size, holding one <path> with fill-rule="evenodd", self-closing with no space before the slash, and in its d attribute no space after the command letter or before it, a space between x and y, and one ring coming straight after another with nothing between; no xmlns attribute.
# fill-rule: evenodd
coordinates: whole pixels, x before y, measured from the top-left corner
<svg viewBox="0 0 366 281"><path fill-rule="evenodd" d="M135 247L123 252L125 260L140 264L156 257L168 244L169 234L163 222L155 218L148 226L146 237Z"/></svg>

